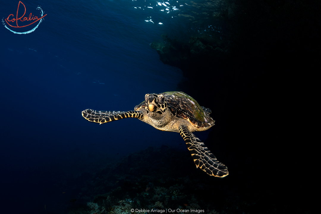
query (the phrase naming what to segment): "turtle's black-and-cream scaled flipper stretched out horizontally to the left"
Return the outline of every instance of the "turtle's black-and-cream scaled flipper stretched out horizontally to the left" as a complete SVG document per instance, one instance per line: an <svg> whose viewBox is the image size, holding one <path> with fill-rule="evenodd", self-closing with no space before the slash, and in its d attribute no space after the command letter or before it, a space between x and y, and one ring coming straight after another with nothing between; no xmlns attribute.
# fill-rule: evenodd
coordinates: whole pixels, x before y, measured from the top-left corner
<svg viewBox="0 0 321 214"><path fill-rule="evenodd" d="M82 116L91 122L99 124L120 120L127 117L134 117L138 119L143 118L143 114L140 111L95 111L92 109L86 109L82 111Z"/></svg>

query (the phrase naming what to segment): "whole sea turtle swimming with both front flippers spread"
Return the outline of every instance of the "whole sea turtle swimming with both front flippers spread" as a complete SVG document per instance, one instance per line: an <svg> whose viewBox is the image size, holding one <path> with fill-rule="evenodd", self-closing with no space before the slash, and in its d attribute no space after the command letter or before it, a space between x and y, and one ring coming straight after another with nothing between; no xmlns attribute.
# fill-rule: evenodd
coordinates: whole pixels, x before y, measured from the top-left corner
<svg viewBox="0 0 321 214"><path fill-rule="evenodd" d="M225 177L227 167L217 161L211 151L192 132L204 131L214 125L211 110L201 107L184 92L170 91L160 94L146 94L145 101L135 106L134 111L95 111L86 109L82 116L99 124L127 117L154 126L161 131L179 132L191 152L196 167L209 175Z"/></svg>

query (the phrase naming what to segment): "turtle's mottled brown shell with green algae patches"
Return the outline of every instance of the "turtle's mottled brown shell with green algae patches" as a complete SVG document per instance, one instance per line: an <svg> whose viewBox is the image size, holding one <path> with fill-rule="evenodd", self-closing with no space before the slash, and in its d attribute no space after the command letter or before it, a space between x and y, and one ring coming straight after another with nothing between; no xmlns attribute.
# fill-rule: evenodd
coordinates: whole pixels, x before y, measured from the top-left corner
<svg viewBox="0 0 321 214"><path fill-rule="evenodd" d="M195 126L197 131L204 131L214 125L214 120L210 117L211 110L201 107L195 99L181 91L169 91L160 93L164 95L167 107L172 114L178 118L185 119ZM142 102L135 107L144 107Z"/></svg>

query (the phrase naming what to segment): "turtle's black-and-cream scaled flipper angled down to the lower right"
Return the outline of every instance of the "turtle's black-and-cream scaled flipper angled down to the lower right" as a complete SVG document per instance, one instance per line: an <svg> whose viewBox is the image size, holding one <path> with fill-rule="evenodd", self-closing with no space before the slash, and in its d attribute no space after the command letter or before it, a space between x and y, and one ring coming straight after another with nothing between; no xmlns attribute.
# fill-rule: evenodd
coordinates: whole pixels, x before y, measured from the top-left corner
<svg viewBox="0 0 321 214"><path fill-rule="evenodd" d="M227 167L217 161L204 143L195 137L184 125L179 126L178 131L183 137L187 149L191 152L196 167L215 177L225 177L229 174Z"/></svg>

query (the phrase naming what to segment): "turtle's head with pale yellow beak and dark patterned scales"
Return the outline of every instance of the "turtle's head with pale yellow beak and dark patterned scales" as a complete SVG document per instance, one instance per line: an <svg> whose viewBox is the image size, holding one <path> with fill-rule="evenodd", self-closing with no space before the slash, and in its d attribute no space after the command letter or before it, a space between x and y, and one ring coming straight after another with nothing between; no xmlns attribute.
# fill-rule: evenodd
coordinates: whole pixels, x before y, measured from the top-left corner
<svg viewBox="0 0 321 214"><path fill-rule="evenodd" d="M146 94L145 95L145 109L146 112L159 113L160 115L166 112L167 103L162 94Z"/></svg>

